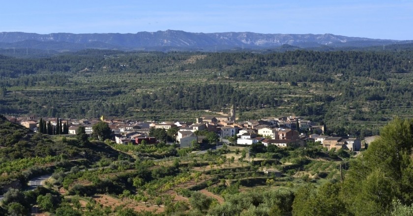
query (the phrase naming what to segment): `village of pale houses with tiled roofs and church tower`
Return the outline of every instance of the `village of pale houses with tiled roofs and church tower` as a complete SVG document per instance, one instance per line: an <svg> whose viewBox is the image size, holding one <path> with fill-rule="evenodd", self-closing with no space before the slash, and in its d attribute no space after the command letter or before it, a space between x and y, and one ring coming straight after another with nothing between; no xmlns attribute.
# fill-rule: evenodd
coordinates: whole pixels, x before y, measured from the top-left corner
<svg viewBox="0 0 413 216"><path fill-rule="evenodd" d="M30 130L37 132L39 118L31 117L7 117L11 122L21 124ZM57 127L59 122L65 122L69 135L76 135L79 126L85 127L86 134L92 134L93 125L99 121L108 124L112 130L112 141L118 144L141 144L142 142L153 144L159 142L155 137L150 137L150 129L174 130L173 140L166 140L169 144L177 144L178 147L191 147L194 142L201 142L203 136L200 131L214 132L217 135L216 143L238 146L249 146L263 143L265 146L276 145L278 147L306 146L307 142L320 142L328 151L332 148L343 149L358 153L362 146L365 148L377 136L365 137L360 140L356 137L339 137L324 135L325 126L316 125L299 116L268 117L260 120L236 121L236 110L232 106L229 115L202 115L195 122L155 122L134 121L116 117L101 116L100 119L60 119L46 118L52 127ZM61 126L60 126L61 127ZM194 141L196 140L196 141ZM363 145L362 145L363 144Z"/></svg>

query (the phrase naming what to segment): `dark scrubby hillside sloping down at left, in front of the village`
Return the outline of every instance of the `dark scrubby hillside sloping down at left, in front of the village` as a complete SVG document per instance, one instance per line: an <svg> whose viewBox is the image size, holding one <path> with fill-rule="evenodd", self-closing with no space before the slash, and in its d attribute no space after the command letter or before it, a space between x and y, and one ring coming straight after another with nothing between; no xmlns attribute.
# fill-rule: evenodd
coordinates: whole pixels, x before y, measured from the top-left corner
<svg viewBox="0 0 413 216"><path fill-rule="evenodd" d="M84 160L88 156L88 160ZM110 157L108 157L110 156ZM30 132L0 115L0 193L14 185L24 188L35 176L79 164L88 165L105 158L117 158L118 152L97 145L82 146L76 140Z"/></svg>

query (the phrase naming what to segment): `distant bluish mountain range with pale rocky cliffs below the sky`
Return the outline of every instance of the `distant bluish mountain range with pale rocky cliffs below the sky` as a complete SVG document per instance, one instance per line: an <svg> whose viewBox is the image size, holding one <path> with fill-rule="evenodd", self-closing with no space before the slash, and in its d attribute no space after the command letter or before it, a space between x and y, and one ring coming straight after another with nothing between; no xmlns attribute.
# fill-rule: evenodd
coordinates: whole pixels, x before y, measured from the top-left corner
<svg viewBox="0 0 413 216"><path fill-rule="evenodd" d="M253 32L191 33L180 30L127 33L51 33L0 32L0 48L78 51L84 49L222 51L262 50L281 46L297 48L370 47L406 44L412 41L347 37L334 34L261 34Z"/></svg>

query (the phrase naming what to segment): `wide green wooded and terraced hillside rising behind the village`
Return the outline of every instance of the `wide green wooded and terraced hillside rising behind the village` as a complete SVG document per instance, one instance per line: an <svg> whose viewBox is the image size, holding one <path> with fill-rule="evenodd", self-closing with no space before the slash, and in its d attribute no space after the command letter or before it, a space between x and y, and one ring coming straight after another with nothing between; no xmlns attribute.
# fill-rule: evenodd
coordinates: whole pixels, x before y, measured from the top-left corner
<svg viewBox="0 0 413 216"><path fill-rule="evenodd" d="M0 113L193 120L234 103L240 120L295 114L339 135L410 117L413 51L185 53L84 50L0 57Z"/></svg>

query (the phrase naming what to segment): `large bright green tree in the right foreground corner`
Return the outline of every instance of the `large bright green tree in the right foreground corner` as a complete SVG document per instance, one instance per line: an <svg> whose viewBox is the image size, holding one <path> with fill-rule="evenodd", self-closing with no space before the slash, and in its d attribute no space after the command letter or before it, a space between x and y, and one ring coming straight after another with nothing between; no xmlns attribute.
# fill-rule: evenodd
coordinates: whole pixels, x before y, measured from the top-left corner
<svg viewBox="0 0 413 216"><path fill-rule="evenodd" d="M362 157L351 162L341 190L350 213L383 215L395 199L413 202L412 135L412 120L395 118Z"/></svg>

